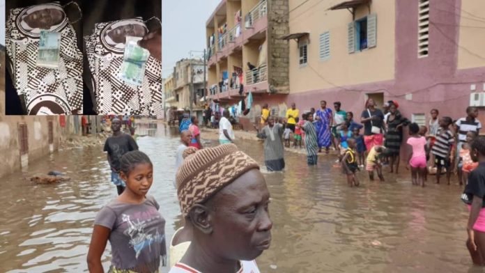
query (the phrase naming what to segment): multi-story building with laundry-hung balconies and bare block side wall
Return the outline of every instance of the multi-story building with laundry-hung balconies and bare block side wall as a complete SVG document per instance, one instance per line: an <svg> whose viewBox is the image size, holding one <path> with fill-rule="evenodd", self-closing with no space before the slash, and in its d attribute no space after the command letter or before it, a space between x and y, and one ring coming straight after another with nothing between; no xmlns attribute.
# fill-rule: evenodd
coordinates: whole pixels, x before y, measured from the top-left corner
<svg viewBox="0 0 485 273"><path fill-rule="evenodd" d="M222 106L249 92L258 106L289 92L288 0L222 0L206 22L208 95ZM268 54L269 52L269 54ZM258 108L259 107L259 108ZM244 124L244 122L242 122Z"/></svg>

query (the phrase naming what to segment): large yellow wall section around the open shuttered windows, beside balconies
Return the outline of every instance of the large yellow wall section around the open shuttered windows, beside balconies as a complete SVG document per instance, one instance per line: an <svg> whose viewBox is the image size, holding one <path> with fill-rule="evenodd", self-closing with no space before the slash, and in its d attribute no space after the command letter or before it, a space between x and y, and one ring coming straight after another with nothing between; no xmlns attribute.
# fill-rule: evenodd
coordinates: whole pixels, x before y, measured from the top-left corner
<svg viewBox="0 0 485 273"><path fill-rule="evenodd" d="M290 41L290 92L300 93L337 86L364 84L394 79L395 4L390 0L374 0L371 13L377 15L377 46L348 54L348 10L328 10L341 1L290 0L290 33L308 32L308 65L300 68L298 43ZM369 14L367 6L357 8L355 19ZM320 34L330 31L330 59L319 57ZM313 70L312 70L313 68ZM319 77L316 72L321 77Z"/></svg>

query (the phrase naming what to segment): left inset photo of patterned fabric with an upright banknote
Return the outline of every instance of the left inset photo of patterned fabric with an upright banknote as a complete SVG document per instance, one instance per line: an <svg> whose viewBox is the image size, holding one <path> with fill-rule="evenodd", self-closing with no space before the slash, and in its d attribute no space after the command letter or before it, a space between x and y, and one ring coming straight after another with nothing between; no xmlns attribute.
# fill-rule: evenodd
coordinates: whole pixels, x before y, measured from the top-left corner
<svg viewBox="0 0 485 273"><path fill-rule="evenodd" d="M82 3L34 3L6 3L5 114L82 114Z"/></svg>

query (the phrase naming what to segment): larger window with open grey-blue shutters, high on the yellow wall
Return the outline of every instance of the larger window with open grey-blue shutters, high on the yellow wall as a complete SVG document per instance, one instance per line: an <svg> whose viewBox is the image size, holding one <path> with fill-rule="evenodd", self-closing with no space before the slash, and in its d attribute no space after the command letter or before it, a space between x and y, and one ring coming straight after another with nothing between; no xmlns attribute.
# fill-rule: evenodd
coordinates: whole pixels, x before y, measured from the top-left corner
<svg viewBox="0 0 485 273"><path fill-rule="evenodd" d="M348 53L376 47L377 15L370 14L348 23Z"/></svg>

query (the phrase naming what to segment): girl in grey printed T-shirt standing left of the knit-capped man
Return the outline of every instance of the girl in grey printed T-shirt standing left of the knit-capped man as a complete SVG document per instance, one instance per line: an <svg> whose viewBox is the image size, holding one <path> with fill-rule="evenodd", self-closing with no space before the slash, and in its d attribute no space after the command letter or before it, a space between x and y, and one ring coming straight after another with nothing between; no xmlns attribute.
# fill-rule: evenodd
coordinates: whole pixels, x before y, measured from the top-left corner
<svg viewBox="0 0 485 273"><path fill-rule="evenodd" d="M123 194L105 205L95 217L88 251L89 272L104 272L101 263L106 242L111 243L109 272L159 272L166 264L165 219L153 196L153 164L140 151L125 153L120 176Z"/></svg>

